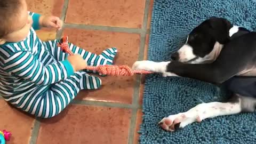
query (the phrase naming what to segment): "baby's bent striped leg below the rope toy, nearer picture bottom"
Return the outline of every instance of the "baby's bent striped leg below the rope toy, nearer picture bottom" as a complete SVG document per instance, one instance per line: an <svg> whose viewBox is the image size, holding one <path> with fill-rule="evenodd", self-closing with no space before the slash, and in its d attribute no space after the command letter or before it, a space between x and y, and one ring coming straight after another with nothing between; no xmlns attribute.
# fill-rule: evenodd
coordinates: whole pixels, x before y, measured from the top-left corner
<svg viewBox="0 0 256 144"><path fill-rule="evenodd" d="M98 89L101 80L79 71L69 78L49 85L38 87L29 94L9 102L17 108L36 117L51 118L58 115L83 89Z"/></svg>

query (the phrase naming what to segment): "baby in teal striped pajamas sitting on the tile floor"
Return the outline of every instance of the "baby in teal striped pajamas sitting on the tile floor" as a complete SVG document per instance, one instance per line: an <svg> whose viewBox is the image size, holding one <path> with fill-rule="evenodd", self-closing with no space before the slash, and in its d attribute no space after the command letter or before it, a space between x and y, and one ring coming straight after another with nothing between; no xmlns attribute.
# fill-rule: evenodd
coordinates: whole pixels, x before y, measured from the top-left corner
<svg viewBox="0 0 256 144"><path fill-rule="evenodd" d="M69 44L75 55L42 42L35 30L61 29L58 17L27 11L25 0L0 1L0 95L14 107L42 118L59 114L83 89L98 89L101 80L88 75L87 65L112 65L117 50L100 55ZM92 72L92 71L87 71Z"/></svg>

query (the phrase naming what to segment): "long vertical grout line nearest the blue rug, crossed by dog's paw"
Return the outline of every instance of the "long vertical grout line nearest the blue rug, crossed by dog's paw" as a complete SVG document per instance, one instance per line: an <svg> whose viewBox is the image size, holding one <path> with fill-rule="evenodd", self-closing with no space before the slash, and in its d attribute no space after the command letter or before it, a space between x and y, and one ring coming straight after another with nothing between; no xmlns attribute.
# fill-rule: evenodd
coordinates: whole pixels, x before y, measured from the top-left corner
<svg viewBox="0 0 256 144"><path fill-rule="evenodd" d="M140 49L139 49L138 60L143 60L143 57L144 57L144 49L145 49L146 33L147 33L147 23L148 23L149 3L150 3L150 0L145 1L143 25L142 25L141 34L140 34L141 41L140 41ZM135 106L135 107L139 107L140 83L141 83L141 76L137 76L136 77L136 84L134 86L133 100L132 100L132 105ZM137 110L138 109L135 109L135 108L132 109L128 144L133 144L133 141L134 141L134 134L135 134L135 129L136 129L136 121L137 121Z"/></svg>

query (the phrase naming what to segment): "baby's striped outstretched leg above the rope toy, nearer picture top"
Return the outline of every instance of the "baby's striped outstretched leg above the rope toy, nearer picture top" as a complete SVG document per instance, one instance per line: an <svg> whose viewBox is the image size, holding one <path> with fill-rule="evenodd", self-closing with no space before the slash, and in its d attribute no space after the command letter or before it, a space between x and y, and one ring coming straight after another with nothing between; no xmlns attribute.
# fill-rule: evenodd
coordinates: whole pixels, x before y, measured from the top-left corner
<svg viewBox="0 0 256 144"><path fill-rule="evenodd" d="M57 46L58 40L55 41L47 41L45 42L46 46L51 48L52 54L58 61L65 60L68 56L67 53L61 51L60 47ZM95 53L91 53L81 49L80 47L69 43L69 49L75 53L80 54L87 61L88 66L99 66L99 65L113 65L113 60L117 53L117 49L115 47L111 47L107 50L104 50L100 55ZM87 71L91 72L91 71Z"/></svg>

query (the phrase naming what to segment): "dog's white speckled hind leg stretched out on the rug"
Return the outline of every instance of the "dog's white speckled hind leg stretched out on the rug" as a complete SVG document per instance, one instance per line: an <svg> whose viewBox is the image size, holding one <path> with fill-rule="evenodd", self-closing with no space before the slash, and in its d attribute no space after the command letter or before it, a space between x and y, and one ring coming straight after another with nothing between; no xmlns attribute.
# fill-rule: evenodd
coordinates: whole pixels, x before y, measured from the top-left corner
<svg viewBox="0 0 256 144"><path fill-rule="evenodd" d="M228 102L201 103L184 113L163 118L159 125L166 131L174 131L188 124L201 122L206 118L233 115L242 111L252 112L255 109L255 103L254 98L234 94Z"/></svg>

